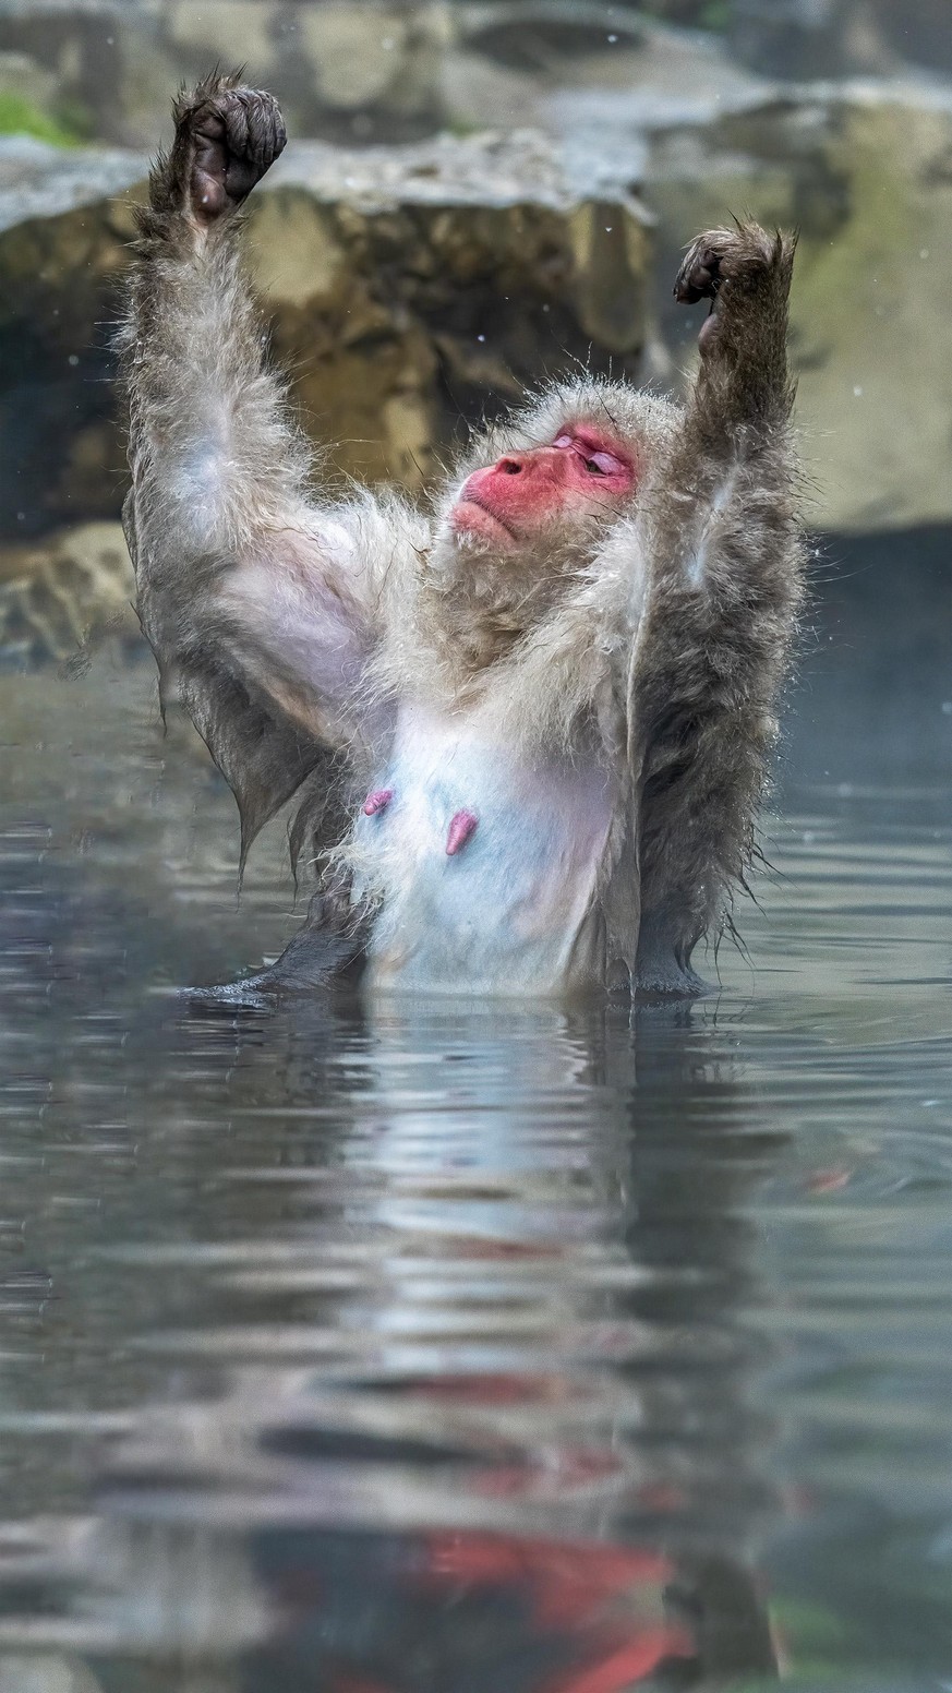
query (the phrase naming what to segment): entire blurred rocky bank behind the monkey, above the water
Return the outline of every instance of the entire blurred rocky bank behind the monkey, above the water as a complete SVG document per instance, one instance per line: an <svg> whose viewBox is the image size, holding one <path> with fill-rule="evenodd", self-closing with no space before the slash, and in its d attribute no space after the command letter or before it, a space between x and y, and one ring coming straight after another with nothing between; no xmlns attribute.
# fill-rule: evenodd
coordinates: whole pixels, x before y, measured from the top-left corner
<svg viewBox="0 0 952 1693"><path fill-rule="evenodd" d="M332 474L420 491L581 366L678 389L679 249L752 212L801 232L811 525L947 557L952 0L0 0L8 662L130 626L110 322L171 93L215 63L288 117L247 261Z"/></svg>

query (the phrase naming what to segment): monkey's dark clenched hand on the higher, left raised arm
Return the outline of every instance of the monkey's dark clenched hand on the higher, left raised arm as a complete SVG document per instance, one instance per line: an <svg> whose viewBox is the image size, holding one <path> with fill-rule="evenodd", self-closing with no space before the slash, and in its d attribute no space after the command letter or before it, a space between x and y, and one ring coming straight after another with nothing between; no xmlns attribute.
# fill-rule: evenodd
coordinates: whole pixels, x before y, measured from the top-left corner
<svg viewBox="0 0 952 1693"><path fill-rule="evenodd" d="M168 191L200 227L235 212L285 149L278 102L234 78L208 76L174 105Z"/></svg>

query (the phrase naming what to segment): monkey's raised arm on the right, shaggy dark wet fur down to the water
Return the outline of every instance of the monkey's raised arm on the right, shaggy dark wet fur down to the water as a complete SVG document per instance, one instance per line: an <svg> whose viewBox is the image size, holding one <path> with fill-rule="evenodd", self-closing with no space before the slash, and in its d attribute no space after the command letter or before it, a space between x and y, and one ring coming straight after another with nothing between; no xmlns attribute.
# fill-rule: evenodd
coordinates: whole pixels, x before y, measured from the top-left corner
<svg viewBox="0 0 952 1693"><path fill-rule="evenodd" d="M754 223L688 251L676 298L711 300L683 428L645 489L647 594L628 672L639 791L637 979L689 979L754 850L774 698L803 594L788 295L794 240Z"/></svg>

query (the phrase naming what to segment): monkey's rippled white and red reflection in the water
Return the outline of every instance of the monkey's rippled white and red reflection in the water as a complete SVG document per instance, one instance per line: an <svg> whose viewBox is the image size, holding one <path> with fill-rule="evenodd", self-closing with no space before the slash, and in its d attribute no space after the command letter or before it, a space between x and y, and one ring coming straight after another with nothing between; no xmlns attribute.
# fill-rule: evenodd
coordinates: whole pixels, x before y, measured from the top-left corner
<svg viewBox="0 0 952 1693"><path fill-rule="evenodd" d="M242 1053L271 1092L276 1033ZM132 1681L107 1656L103 1688L772 1676L759 1359L735 1310L776 1138L713 1012L634 1033L615 1012L381 1012L334 1078L352 1121L303 1150L329 1089L313 1051L295 1014L280 1209L229 1273L230 1390L152 1422L102 1497L112 1617L180 1668L137 1657Z"/></svg>

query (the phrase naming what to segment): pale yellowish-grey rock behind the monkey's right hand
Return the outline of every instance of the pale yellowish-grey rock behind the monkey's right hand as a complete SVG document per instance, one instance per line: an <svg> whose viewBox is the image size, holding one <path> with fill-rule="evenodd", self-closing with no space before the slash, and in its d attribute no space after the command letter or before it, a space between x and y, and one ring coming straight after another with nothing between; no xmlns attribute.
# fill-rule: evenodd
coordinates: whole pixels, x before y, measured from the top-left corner
<svg viewBox="0 0 952 1693"><path fill-rule="evenodd" d="M810 85L659 129L645 195L676 359L698 313L676 312L664 284L689 235L730 212L800 227L791 352L811 521L949 521L952 95Z"/></svg>

